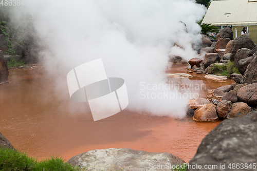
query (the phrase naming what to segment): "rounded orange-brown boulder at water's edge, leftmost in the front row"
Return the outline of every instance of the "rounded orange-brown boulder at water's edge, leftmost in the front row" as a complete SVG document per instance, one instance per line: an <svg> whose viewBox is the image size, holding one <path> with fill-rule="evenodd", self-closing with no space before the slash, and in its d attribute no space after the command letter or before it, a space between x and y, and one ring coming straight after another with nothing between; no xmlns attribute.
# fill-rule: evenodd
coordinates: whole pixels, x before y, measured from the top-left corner
<svg viewBox="0 0 257 171"><path fill-rule="evenodd" d="M218 119L216 106L212 103L202 106L194 111L193 120L197 122L215 121Z"/></svg>

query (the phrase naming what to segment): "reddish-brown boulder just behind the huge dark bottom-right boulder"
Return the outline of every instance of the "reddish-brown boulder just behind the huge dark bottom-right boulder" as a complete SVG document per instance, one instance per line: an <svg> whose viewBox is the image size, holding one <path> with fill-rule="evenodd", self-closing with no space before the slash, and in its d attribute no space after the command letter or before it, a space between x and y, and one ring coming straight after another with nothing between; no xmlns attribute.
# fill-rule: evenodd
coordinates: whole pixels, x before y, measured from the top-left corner
<svg viewBox="0 0 257 171"><path fill-rule="evenodd" d="M251 108L243 102L233 103L230 111L227 114L228 119L242 117L251 112Z"/></svg>

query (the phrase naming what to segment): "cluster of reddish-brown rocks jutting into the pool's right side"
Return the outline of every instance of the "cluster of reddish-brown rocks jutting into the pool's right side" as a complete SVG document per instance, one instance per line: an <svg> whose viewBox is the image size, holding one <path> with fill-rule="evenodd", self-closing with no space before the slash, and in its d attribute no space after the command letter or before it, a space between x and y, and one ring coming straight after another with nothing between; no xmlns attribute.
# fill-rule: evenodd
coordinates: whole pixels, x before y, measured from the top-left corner
<svg viewBox="0 0 257 171"><path fill-rule="evenodd" d="M257 106L257 83L233 83L213 90L213 95L220 100L197 98L188 102L188 114L193 115L194 121L233 119L247 115Z"/></svg>

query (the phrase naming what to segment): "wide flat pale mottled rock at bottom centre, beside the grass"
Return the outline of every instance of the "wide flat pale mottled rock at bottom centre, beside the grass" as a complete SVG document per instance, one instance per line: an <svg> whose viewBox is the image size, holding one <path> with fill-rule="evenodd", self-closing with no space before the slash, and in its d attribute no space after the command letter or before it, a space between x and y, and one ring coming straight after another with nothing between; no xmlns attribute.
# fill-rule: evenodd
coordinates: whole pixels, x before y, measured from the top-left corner
<svg viewBox="0 0 257 171"><path fill-rule="evenodd" d="M177 165L185 163L170 153L149 153L130 148L94 149L68 160L73 166L87 170L168 170L157 165ZM156 166L156 169L152 168ZM152 166L152 167L151 167ZM152 168L152 169L151 169ZM170 170L170 169L169 169Z"/></svg>

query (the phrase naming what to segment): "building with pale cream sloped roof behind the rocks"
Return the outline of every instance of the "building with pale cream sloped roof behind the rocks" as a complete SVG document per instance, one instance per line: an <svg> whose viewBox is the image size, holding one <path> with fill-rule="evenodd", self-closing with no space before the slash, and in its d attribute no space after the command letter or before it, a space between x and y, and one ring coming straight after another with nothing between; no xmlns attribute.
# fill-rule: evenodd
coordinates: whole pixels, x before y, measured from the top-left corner
<svg viewBox="0 0 257 171"><path fill-rule="evenodd" d="M247 28L250 38L257 44L257 0L212 1L202 23L222 29L232 26L234 38Z"/></svg>

